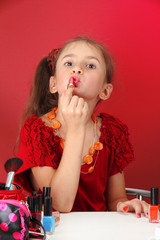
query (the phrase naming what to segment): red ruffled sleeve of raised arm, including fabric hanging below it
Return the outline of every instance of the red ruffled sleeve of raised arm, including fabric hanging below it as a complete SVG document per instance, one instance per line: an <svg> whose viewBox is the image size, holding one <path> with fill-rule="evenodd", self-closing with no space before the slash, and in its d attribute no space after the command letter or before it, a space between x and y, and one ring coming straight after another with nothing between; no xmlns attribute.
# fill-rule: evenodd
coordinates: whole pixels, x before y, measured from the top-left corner
<svg viewBox="0 0 160 240"><path fill-rule="evenodd" d="M32 115L21 129L17 157L23 160L23 165L16 173L15 182L31 191L30 168L50 166L56 169L60 161L59 141L52 128L47 127L41 118Z"/></svg>

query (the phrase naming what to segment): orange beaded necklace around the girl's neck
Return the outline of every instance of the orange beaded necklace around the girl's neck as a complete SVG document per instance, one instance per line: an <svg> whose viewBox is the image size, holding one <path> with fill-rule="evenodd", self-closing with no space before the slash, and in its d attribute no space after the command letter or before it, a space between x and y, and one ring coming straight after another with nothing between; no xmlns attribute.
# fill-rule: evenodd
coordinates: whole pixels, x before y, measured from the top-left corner
<svg viewBox="0 0 160 240"><path fill-rule="evenodd" d="M49 112L48 115L47 115L48 119L52 120L51 126L55 130L57 130L61 127L61 123L58 120L53 120L53 119L56 118L56 112L55 112L56 110L57 110L57 107L54 107L52 109L52 111ZM92 118L93 122L95 123L95 127L96 127L96 124L97 124L98 120L96 119L96 117L93 114L92 114L91 118ZM96 133L96 129L95 129L95 133ZM62 149L64 149L64 145L65 145L65 140L61 139L60 140L60 146L62 147ZM100 151L102 149L103 149L103 143L95 142L94 146L89 148L89 154L84 156L84 158L83 158L84 163L87 164L87 165L92 164L93 163L93 155L95 154L96 151ZM97 154L97 157L98 157L98 154ZM97 157L96 157L94 166L89 167L88 172L81 172L81 173L84 173L84 174L92 173L94 171L94 167L95 167L95 164L96 164L96 161L97 161Z"/></svg>

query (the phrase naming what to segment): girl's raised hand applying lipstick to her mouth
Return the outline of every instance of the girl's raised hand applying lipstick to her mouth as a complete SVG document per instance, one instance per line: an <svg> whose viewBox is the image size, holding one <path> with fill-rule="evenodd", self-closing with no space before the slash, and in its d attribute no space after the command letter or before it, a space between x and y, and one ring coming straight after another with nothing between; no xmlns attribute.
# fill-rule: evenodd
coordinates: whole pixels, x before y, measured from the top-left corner
<svg viewBox="0 0 160 240"><path fill-rule="evenodd" d="M67 128L85 126L88 117L88 104L83 98L72 96L74 88L68 88L61 96L58 110L62 112Z"/></svg>

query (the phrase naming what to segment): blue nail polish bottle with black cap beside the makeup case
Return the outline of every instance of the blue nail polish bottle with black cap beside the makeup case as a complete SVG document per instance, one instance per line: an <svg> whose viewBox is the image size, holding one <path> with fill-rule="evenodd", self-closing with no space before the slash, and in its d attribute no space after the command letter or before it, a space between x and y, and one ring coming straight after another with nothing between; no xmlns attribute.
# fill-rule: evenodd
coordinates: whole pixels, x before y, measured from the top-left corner
<svg viewBox="0 0 160 240"><path fill-rule="evenodd" d="M52 198L45 197L44 199L44 215L42 224L46 233L52 235L55 229L55 218L52 215Z"/></svg>

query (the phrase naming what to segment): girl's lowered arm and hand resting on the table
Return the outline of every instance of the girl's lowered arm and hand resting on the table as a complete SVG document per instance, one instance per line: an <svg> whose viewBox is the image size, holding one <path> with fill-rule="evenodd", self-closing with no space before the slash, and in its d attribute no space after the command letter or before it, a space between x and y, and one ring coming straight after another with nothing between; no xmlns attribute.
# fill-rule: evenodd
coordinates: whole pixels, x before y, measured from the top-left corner
<svg viewBox="0 0 160 240"><path fill-rule="evenodd" d="M145 201L140 201L137 198L127 199L123 172L109 178L106 194L110 211L135 212L137 217L141 217L141 212L144 212L145 216L148 217L148 204Z"/></svg>

